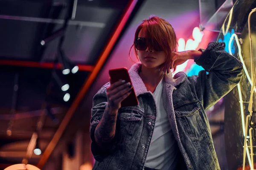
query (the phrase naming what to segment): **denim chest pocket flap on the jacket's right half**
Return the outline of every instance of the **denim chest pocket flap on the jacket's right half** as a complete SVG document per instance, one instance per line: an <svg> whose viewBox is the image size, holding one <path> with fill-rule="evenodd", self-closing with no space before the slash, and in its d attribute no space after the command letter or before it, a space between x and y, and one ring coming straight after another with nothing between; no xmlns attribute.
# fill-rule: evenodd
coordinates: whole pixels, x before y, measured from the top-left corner
<svg viewBox="0 0 256 170"><path fill-rule="evenodd" d="M198 106L198 101L195 102L183 102L181 105L177 105L174 108L174 112L177 116L192 116L195 114L200 107Z"/></svg>

